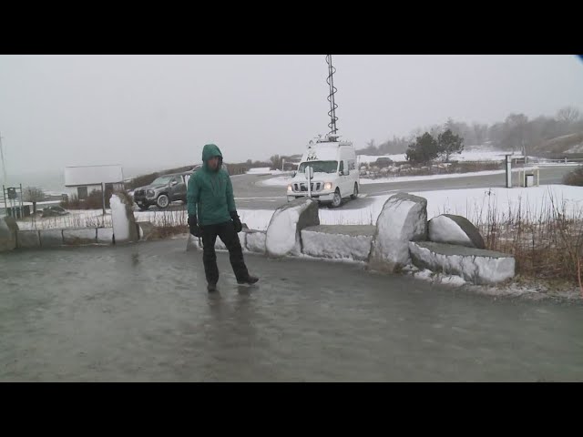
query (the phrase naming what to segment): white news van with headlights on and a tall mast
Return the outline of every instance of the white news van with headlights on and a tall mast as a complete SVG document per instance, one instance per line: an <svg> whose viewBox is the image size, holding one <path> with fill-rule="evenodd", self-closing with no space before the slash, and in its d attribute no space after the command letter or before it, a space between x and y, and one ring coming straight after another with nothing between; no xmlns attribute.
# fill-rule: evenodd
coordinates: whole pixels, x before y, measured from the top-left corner
<svg viewBox="0 0 583 437"><path fill-rule="evenodd" d="M306 168L313 168L311 193L308 191ZM360 185L360 172L356 163L353 143L339 141L338 137L326 136L307 147L297 172L288 185L287 198L307 197L332 208L340 207L343 198L356 198Z"/></svg>

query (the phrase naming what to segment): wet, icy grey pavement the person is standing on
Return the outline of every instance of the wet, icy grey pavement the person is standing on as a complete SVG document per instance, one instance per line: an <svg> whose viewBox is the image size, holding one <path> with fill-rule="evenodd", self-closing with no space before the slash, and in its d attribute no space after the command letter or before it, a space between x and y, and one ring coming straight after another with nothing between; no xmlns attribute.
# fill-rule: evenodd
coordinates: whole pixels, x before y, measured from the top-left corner
<svg viewBox="0 0 583 437"><path fill-rule="evenodd" d="M182 240L0 254L0 381L583 381L583 306Z"/></svg>

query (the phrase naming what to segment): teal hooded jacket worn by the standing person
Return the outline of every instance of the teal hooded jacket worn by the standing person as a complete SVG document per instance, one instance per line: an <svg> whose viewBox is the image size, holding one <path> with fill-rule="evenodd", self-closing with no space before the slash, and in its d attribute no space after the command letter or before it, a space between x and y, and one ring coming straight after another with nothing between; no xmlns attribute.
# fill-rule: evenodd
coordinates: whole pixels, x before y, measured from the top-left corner
<svg viewBox="0 0 583 437"><path fill-rule="evenodd" d="M213 157L220 157L216 170L211 170L207 165L207 161ZM230 212L237 209L229 174L221 168L221 164L219 147L207 144L202 148L202 168L189 178L189 215L197 216L200 226L230 221Z"/></svg>

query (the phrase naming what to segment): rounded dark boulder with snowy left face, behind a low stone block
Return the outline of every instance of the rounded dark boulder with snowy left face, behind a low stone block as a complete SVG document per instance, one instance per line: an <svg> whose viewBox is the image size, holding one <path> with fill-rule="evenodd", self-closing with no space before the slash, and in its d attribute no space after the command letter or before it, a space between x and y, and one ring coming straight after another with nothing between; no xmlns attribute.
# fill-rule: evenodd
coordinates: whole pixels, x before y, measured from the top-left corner
<svg viewBox="0 0 583 437"><path fill-rule="evenodd" d="M486 249L480 231L472 222L465 217L452 214L442 214L429 220L429 240L435 243Z"/></svg>

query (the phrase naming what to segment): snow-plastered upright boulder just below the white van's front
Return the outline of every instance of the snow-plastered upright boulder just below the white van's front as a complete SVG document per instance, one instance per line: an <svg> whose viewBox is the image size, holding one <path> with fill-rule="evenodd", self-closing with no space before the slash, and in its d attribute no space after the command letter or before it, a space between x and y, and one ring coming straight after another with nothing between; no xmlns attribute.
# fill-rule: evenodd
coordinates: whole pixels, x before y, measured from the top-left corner
<svg viewBox="0 0 583 437"><path fill-rule="evenodd" d="M297 198L276 209L266 233L268 255L299 255L302 252L302 229L319 224L318 202L311 198Z"/></svg>

